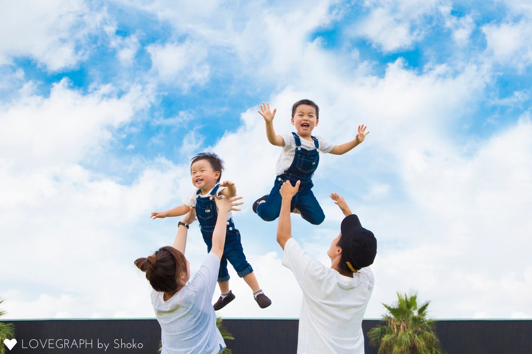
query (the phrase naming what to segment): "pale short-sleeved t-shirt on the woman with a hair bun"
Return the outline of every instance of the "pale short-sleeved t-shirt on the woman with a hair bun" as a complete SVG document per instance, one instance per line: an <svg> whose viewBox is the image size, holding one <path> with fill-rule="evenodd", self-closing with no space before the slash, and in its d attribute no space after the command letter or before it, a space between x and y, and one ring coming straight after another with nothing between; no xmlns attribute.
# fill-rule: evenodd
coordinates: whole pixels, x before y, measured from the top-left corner
<svg viewBox="0 0 532 354"><path fill-rule="evenodd" d="M152 289L155 317L161 325L162 354L215 354L226 347L216 327L211 300L218 280L220 260L209 253L200 270L168 301Z"/></svg>

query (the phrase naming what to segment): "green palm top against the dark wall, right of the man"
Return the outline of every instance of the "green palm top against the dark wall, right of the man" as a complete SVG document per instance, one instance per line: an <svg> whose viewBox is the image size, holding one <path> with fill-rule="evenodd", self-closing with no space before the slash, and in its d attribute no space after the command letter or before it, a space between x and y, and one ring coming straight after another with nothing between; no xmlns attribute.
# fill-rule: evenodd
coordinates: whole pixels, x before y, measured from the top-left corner
<svg viewBox="0 0 532 354"><path fill-rule="evenodd" d="M387 313L368 336L370 344L379 347L378 354L441 354L434 332L434 320L427 317L430 301L418 307L418 294L401 295L392 305L383 304Z"/></svg>

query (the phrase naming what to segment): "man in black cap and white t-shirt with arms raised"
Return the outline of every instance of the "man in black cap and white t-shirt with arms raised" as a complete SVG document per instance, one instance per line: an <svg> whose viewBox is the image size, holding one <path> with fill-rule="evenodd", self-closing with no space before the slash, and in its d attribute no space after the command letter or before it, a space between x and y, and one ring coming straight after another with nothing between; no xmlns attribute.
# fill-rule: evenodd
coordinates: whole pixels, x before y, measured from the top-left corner
<svg viewBox="0 0 532 354"><path fill-rule="evenodd" d="M327 251L331 266L306 254L292 238L290 223L290 202L299 184L282 184L277 227L277 242L284 250L282 264L294 273L303 291L297 352L363 354L362 318L373 290L368 266L377 254L377 240L361 226L344 198L331 193L345 215L341 232Z"/></svg>

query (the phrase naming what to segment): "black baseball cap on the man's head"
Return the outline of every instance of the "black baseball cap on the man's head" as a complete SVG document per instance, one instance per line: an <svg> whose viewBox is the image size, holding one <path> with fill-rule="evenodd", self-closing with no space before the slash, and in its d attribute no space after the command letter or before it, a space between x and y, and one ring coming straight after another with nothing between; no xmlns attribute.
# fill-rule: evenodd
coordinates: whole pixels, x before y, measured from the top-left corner
<svg viewBox="0 0 532 354"><path fill-rule="evenodd" d="M364 229L359 217L348 215L340 226L342 237L339 246L345 262L349 262L355 270L373 264L377 254L377 239L368 229Z"/></svg>

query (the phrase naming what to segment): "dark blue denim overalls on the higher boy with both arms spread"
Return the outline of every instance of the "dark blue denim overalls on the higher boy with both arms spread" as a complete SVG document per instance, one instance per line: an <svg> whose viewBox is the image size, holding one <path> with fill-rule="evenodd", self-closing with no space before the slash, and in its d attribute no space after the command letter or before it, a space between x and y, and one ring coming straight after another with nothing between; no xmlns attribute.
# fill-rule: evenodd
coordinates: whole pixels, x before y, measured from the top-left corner
<svg viewBox="0 0 532 354"><path fill-rule="evenodd" d="M292 165L290 165L284 173L275 178L268 199L257 206L257 214L265 221L277 219L281 210L282 198L279 193L281 185L285 183L286 180L289 180L294 186L299 180L299 191L292 198L290 210L297 208L301 212L303 219L309 221L313 225L319 225L325 220L325 214L323 214L323 210L311 190L313 186L311 178L314 171L318 168L318 163L320 161L318 139L311 135L316 149L307 150L302 148L299 135L296 133L292 134L294 135L296 144Z"/></svg>

